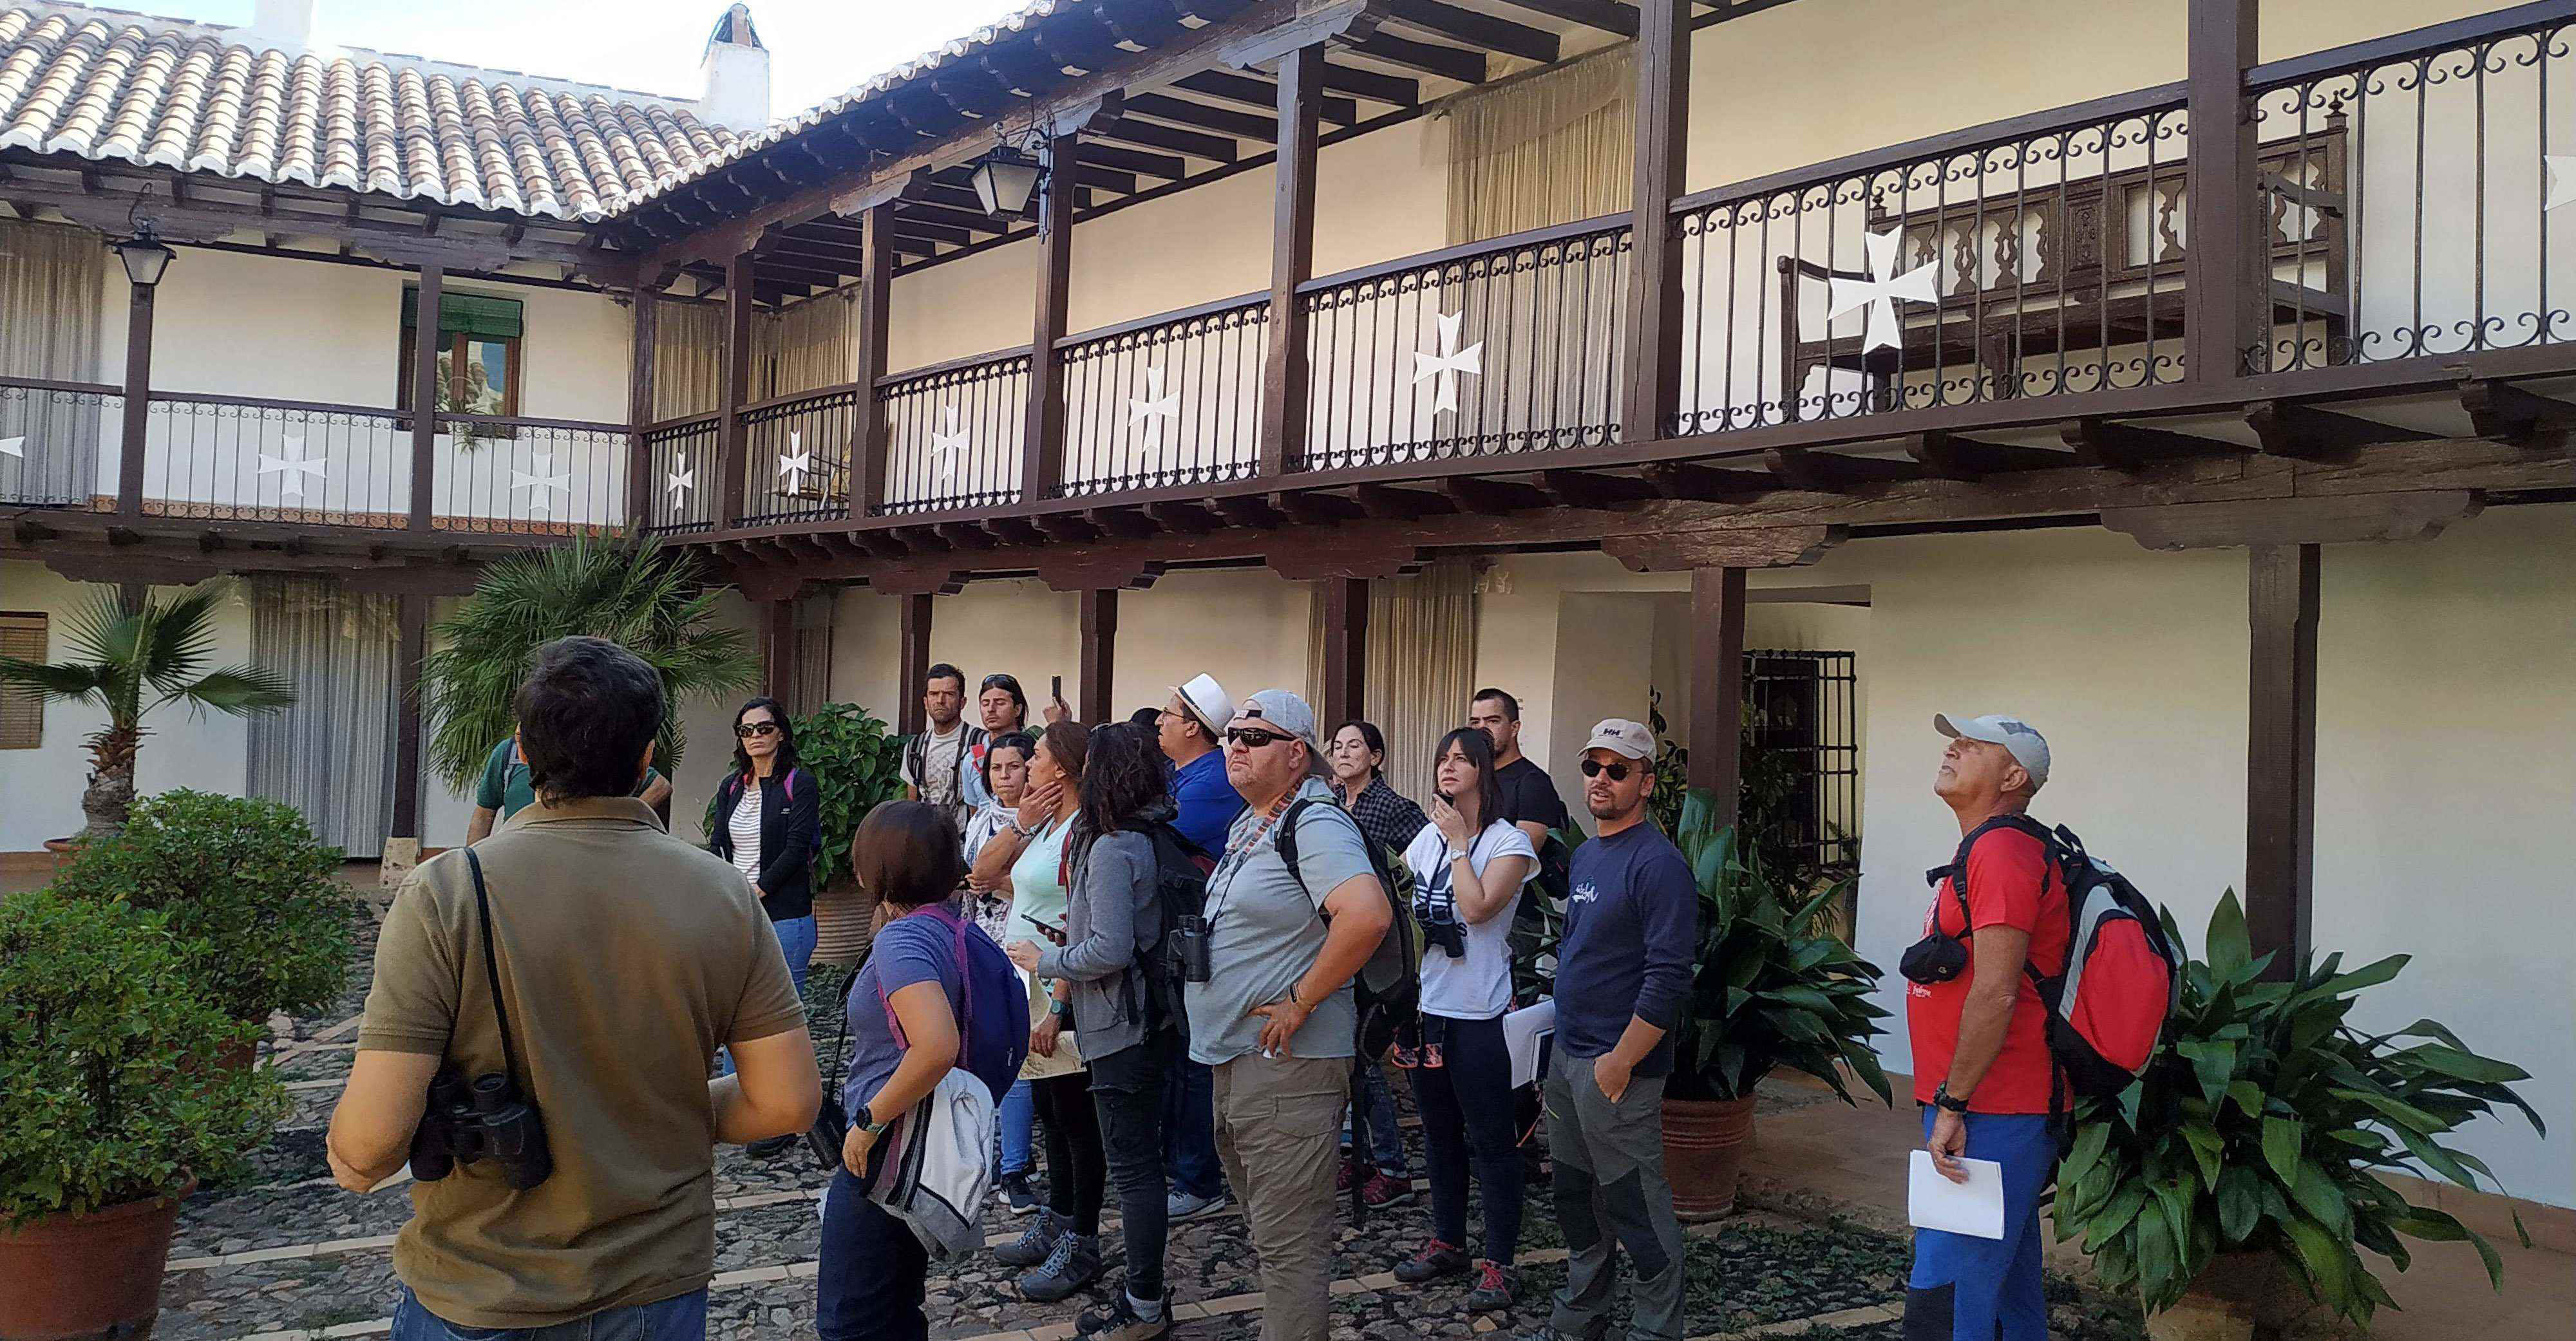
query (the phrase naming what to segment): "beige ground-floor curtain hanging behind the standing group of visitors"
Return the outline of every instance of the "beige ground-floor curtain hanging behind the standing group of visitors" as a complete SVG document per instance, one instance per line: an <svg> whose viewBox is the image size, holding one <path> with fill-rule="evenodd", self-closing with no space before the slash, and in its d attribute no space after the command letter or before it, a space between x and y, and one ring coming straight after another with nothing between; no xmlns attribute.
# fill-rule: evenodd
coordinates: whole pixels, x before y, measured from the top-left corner
<svg viewBox="0 0 2576 1341"><path fill-rule="evenodd" d="M1324 682L1321 600L1309 615L1306 682ZM1386 782L1422 800L1432 793L1432 746L1466 726L1466 695L1476 692L1476 574L1463 559L1368 584L1363 685L1363 716L1386 734Z"/></svg>

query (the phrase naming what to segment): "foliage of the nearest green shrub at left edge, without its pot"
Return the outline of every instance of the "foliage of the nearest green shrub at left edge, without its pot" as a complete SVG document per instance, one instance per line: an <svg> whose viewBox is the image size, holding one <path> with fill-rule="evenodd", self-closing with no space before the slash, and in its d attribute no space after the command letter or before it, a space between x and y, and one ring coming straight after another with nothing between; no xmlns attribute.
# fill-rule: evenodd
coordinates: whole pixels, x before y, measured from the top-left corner
<svg viewBox="0 0 2576 1341"><path fill-rule="evenodd" d="M193 983L165 916L0 898L0 1225L229 1176L286 1117L273 1076L216 1063L258 1035Z"/></svg>

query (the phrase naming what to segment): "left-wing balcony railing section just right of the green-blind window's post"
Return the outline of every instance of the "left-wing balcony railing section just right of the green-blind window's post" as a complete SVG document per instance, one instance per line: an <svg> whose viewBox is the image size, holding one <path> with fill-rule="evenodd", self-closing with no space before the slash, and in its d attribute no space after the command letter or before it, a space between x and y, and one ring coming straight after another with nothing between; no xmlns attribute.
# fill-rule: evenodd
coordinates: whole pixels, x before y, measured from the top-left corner
<svg viewBox="0 0 2576 1341"><path fill-rule="evenodd" d="M626 525L626 425L440 414L430 528L598 535Z"/></svg>

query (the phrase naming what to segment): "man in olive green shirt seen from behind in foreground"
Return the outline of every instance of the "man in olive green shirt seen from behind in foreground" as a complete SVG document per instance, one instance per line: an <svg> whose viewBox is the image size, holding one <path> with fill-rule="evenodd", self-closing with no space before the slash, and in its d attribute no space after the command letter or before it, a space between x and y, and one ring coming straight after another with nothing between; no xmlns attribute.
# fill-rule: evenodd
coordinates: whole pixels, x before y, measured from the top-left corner
<svg viewBox="0 0 2576 1341"><path fill-rule="evenodd" d="M507 1066L477 857L510 1071L544 1117L554 1171L520 1192L484 1158L412 1184L394 1338L585 1318L600 1333L703 1336L714 1143L814 1122L804 1006L742 873L672 839L631 795L662 721L652 669L600 638L546 643L518 718L536 803L422 862L386 911L330 1122L332 1176L368 1192L402 1169L440 1066ZM737 1071L708 1081L719 1045Z"/></svg>

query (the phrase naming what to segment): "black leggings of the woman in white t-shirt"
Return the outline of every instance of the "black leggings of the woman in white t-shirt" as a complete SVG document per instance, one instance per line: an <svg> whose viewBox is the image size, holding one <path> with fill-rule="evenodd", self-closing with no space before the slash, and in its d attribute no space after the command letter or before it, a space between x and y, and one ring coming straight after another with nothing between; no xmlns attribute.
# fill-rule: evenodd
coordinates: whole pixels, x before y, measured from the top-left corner
<svg viewBox="0 0 2576 1341"><path fill-rule="evenodd" d="M1432 1174L1432 1235L1466 1248L1466 1171L1484 1192L1484 1256L1510 1266L1520 1251L1520 1133L1512 1130L1512 1050L1502 1017L1422 1017L1440 1066L1412 1071L1422 1148Z"/></svg>

